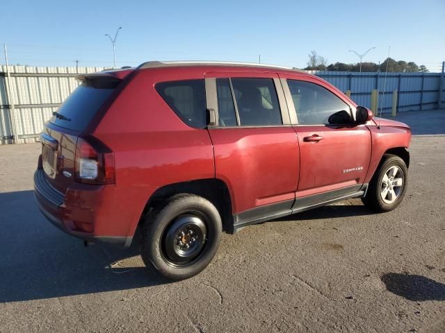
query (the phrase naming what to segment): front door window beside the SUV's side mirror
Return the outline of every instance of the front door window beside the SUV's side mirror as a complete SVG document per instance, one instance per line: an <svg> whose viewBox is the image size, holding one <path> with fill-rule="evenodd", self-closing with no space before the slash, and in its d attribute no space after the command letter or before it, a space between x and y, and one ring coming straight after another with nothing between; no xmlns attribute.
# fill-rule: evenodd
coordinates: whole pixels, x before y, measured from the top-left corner
<svg viewBox="0 0 445 333"><path fill-rule="evenodd" d="M339 111L350 113L349 105L329 90L299 80L287 80L298 123L302 125L327 124L329 117Z"/></svg>

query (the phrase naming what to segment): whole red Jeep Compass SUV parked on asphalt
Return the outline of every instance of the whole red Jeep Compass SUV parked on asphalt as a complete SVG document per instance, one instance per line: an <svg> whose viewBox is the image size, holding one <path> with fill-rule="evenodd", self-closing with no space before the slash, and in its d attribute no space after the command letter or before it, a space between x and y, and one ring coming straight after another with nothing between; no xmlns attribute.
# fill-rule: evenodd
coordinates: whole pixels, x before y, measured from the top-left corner
<svg viewBox="0 0 445 333"><path fill-rule="evenodd" d="M86 241L138 234L166 278L202 271L223 230L346 198L387 212L405 194L410 128L305 71L146 62L79 80L40 135L38 206Z"/></svg>

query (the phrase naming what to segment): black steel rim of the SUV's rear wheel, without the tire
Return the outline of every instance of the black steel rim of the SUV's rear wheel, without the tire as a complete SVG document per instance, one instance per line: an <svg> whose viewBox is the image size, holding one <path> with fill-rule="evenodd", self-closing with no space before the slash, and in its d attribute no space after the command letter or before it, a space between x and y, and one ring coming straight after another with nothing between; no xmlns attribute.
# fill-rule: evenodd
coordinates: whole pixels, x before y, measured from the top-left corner
<svg viewBox="0 0 445 333"><path fill-rule="evenodd" d="M186 266L201 253L207 241L207 225L197 214L181 214L168 226L163 237L166 259L175 266Z"/></svg>

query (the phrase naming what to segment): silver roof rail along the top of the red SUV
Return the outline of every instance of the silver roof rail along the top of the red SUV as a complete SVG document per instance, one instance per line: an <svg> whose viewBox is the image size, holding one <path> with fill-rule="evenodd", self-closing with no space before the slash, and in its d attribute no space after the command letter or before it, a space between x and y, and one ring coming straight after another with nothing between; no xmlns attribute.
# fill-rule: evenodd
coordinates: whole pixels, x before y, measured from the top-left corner
<svg viewBox="0 0 445 333"><path fill-rule="evenodd" d="M138 69L145 68L158 68L158 67L179 67L179 66L247 66L247 67L265 67L265 68L277 68L277 69L287 69L289 71L302 71L295 67L285 67L279 65L266 65L257 64L254 62L231 62L231 61L203 61L203 60L186 60L186 61L148 61L139 65ZM303 71L304 72L304 71Z"/></svg>

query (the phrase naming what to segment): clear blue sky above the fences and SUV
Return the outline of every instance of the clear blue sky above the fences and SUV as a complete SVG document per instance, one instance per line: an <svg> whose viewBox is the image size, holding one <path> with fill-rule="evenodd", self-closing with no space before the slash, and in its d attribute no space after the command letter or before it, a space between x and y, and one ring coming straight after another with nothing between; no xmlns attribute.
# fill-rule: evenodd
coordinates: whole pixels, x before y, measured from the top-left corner
<svg viewBox="0 0 445 333"><path fill-rule="evenodd" d="M2 1L0 43L10 64L135 66L149 60L223 60L306 67L388 56L440 71L445 0ZM0 63L5 63L3 50Z"/></svg>

